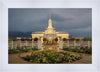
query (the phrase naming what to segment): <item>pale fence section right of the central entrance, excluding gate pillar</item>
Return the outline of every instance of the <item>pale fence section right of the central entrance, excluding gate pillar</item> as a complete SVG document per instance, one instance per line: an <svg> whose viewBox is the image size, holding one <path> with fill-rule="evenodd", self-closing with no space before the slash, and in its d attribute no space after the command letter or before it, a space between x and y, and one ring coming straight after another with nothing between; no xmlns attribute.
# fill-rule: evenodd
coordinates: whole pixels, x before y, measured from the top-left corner
<svg viewBox="0 0 100 72"><path fill-rule="evenodd" d="M63 46L66 47L84 47L84 48L91 48L92 47L92 41L65 41L63 42Z"/></svg>

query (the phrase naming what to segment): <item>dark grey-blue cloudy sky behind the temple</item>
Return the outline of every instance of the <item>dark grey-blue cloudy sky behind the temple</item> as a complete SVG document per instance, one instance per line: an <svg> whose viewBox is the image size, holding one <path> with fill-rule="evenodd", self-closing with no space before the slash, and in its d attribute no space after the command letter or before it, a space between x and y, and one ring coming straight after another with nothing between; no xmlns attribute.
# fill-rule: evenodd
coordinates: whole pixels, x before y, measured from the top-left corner
<svg viewBox="0 0 100 72"><path fill-rule="evenodd" d="M90 8L10 8L9 32L44 31L48 27L49 13L56 31L68 32L73 37L91 37Z"/></svg>

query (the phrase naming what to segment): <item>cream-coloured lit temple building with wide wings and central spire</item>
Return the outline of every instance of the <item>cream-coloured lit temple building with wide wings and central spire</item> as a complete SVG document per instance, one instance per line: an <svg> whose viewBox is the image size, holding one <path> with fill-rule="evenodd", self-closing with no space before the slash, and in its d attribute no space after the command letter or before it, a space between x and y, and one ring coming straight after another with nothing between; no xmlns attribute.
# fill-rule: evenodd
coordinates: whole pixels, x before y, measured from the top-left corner
<svg viewBox="0 0 100 72"><path fill-rule="evenodd" d="M55 28L52 27L52 20L50 16L48 20L48 27L45 29L44 32L32 32L32 39L34 38L41 39L42 42L43 42L43 38L46 38L48 41L52 41L55 38L58 38L58 40L63 39L63 38L68 39L69 33L68 32L56 32Z"/></svg>

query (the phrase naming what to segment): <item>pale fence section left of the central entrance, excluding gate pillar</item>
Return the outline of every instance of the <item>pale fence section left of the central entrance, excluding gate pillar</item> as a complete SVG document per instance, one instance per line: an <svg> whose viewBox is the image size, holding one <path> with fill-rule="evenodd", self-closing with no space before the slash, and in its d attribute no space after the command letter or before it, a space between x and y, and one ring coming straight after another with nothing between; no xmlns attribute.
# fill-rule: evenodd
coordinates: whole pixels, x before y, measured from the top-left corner
<svg viewBox="0 0 100 72"><path fill-rule="evenodd" d="M16 48L33 48L38 46L38 43L35 41L9 41L8 48L16 49Z"/></svg>

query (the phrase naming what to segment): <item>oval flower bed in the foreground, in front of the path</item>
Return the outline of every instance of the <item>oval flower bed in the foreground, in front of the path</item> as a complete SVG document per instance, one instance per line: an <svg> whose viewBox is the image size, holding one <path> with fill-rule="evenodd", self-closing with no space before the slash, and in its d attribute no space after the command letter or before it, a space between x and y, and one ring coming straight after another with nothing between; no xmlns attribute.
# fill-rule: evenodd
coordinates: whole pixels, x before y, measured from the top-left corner
<svg viewBox="0 0 100 72"><path fill-rule="evenodd" d="M71 63L76 60L80 60L81 57L70 55L66 52L56 51L39 51L33 52L31 55L24 57L25 60L32 63Z"/></svg>

